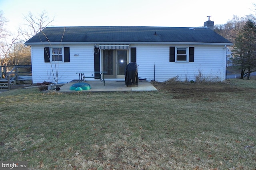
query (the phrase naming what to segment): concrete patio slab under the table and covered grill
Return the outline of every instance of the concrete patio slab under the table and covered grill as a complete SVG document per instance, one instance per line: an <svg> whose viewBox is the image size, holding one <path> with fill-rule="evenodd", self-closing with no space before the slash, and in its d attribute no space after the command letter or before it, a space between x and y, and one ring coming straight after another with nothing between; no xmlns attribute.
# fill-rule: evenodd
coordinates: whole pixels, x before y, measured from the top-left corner
<svg viewBox="0 0 256 170"><path fill-rule="evenodd" d="M106 81L106 80L105 80ZM106 81L104 86L103 82L100 80L89 80L85 81L86 83L90 84L90 90L83 90L82 92L114 92L114 91L157 91L157 89L147 81L139 81L138 86L126 86L124 81ZM70 82L64 84L60 87L59 91L56 92L77 92L75 90L70 90L72 84L77 82Z"/></svg>

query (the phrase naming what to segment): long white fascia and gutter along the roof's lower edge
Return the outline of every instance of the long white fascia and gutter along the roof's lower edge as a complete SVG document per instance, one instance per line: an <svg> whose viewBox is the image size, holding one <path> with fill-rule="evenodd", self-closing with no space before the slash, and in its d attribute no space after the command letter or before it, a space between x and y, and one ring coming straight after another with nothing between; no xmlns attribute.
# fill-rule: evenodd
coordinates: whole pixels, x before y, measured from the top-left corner
<svg viewBox="0 0 256 170"><path fill-rule="evenodd" d="M232 46L232 43L207 43L207 42L28 42L27 46L31 45L65 45L65 44L186 44L186 45L227 45Z"/></svg>

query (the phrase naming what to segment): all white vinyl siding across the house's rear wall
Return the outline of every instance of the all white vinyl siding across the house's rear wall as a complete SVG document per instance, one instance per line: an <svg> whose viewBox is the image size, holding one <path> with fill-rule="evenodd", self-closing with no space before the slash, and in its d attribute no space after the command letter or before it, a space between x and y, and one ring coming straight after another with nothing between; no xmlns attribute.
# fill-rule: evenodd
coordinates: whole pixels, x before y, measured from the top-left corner
<svg viewBox="0 0 256 170"><path fill-rule="evenodd" d="M170 46L187 49L194 47L194 62L170 62ZM70 62L61 62L56 66L44 62L44 47L48 46L38 45L31 48L33 83L55 82L53 75L56 75L56 69L58 70L58 82L65 83L78 79L79 76L76 74L78 71L94 71L94 44L65 44L64 47L70 47ZM226 48L224 46L133 44L132 47L136 48L138 76L146 78L148 81L162 82L176 76L180 81L195 81L196 75L199 73L206 80L225 80ZM130 53L130 49L128 53Z"/></svg>

